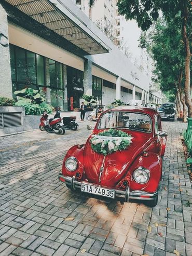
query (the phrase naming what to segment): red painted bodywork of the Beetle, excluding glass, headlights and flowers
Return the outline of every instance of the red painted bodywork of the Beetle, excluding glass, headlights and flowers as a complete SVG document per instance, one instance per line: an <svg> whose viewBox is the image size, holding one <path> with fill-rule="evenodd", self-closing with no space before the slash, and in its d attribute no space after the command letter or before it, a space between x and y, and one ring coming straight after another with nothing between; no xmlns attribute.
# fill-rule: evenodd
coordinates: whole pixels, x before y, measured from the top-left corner
<svg viewBox="0 0 192 256"><path fill-rule="evenodd" d="M92 134L103 131L103 129L97 128L102 116L107 112L115 111L147 114L152 120L152 130L150 133L146 133L121 129L131 134L133 137L132 143L126 150L117 151L106 156L101 182L99 182L98 177L104 156L95 153L91 149L90 139ZM75 145L67 152L63 161L62 175L73 177L79 172L81 174L81 177L78 178L79 181L107 188L117 188L118 190L125 190L120 184L122 184L122 181L127 180L130 191L156 192L162 175L162 156L166 148L166 137L156 134L155 122L156 126L158 122L158 130L162 131L158 112L148 108L116 107L115 109L103 112L86 144L81 146ZM65 160L71 156L74 156L78 161L77 169L74 172L70 172L65 168ZM145 184L136 183L133 179L133 171L138 167L150 170L149 181Z"/></svg>

